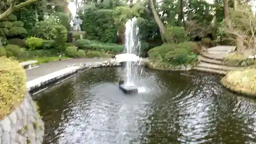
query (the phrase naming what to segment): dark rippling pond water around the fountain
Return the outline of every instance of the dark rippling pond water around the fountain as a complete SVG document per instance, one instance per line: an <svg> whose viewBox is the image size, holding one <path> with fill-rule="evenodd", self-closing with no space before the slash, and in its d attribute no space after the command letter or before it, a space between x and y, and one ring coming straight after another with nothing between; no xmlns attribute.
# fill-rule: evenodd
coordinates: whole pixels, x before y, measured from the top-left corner
<svg viewBox="0 0 256 144"><path fill-rule="evenodd" d="M121 68L92 69L37 94L50 143L256 143L255 101L220 77L144 69L137 95L115 83Z"/></svg>

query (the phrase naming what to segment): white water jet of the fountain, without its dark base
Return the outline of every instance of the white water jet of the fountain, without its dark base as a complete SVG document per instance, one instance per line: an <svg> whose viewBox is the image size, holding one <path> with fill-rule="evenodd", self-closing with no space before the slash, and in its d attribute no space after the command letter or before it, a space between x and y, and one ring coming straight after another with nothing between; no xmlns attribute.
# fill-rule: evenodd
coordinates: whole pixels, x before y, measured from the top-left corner
<svg viewBox="0 0 256 144"><path fill-rule="evenodd" d="M125 49L127 54L140 55L140 41L138 38L139 28L136 24L136 18L132 18L125 23ZM127 61L125 65L126 71L126 85L134 85L133 80L136 74L136 69L133 69L134 63Z"/></svg>

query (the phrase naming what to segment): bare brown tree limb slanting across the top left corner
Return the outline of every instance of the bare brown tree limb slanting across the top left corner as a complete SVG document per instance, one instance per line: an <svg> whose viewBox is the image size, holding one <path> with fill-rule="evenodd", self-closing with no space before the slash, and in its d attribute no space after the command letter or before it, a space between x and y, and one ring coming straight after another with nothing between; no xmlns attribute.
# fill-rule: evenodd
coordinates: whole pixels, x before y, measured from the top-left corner
<svg viewBox="0 0 256 144"><path fill-rule="evenodd" d="M15 5L15 2L16 1L13 1L13 4L10 5L10 7L2 14L0 14L0 21L6 19L12 12L16 11L16 10L19 10L19 9L22 9L28 5L31 5L33 3L36 3L38 2L39 0L29 0L29 1L26 1L26 2L23 2L23 3L20 3L18 5Z"/></svg>

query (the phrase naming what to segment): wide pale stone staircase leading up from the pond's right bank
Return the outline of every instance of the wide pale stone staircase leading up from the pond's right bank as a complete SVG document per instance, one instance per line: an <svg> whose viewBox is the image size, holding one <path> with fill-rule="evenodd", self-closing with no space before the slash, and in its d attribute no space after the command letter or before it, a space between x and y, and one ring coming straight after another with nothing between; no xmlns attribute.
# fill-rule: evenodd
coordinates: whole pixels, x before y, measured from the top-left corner
<svg viewBox="0 0 256 144"><path fill-rule="evenodd" d="M209 48L207 52L203 52L198 56L200 63L193 69L223 75L226 75L228 71L243 69L243 67L231 67L222 64L225 55L233 52L235 48L235 46L216 46Z"/></svg>

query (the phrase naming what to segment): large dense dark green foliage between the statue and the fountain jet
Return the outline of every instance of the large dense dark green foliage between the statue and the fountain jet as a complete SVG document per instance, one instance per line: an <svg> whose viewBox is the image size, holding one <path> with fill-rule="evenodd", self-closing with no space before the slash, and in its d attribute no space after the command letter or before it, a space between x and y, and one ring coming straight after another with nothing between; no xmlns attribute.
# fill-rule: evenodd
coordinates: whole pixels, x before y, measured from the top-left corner
<svg viewBox="0 0 256 144"><path fill-rule="evenodd" d="M84 21L82 30L87 32L88 39L105 43L115 43L117 40L117 25L115 25L113 10L87 9L82 15Z"/></svg>

